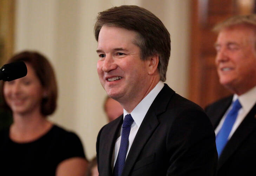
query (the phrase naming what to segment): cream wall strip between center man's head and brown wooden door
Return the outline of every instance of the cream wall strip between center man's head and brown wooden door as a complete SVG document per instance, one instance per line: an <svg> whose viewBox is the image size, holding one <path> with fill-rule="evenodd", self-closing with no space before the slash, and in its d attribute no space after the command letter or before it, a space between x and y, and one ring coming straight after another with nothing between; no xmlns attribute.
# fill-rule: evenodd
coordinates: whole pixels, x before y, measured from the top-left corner
<svg viewBox="0 0 256 176"><path fill-rule="evenodd" d="M171 57L166 83L180 95L188 96L190 1L142 0L142 7L150 10L164 23L171 34Z"/></svg>

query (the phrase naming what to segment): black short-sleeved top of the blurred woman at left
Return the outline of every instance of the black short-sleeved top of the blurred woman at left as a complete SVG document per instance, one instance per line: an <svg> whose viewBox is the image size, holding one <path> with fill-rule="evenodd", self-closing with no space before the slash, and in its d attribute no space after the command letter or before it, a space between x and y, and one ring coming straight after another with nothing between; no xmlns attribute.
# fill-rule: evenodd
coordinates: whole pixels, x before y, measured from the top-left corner
<svg viewBox="0 0 256 176"><path fill-rule="evenodd" d="M58 164L72 157L85 158L78 136L54 125L39 139L17 143L9 128L0 132L0 175L54 176Z"/></svg>

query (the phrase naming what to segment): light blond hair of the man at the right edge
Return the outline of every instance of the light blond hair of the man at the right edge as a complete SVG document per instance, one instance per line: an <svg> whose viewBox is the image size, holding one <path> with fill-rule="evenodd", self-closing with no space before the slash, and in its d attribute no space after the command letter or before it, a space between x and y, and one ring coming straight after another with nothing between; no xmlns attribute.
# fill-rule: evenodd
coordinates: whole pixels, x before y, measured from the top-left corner
<svg viewBox="0 0 256 176"><path fill-rule="evenodd" d="M232 16L227 20L218 23L212 30L218 33L224 28L236 25L246 25L256 29L256 14Z"/></svg>

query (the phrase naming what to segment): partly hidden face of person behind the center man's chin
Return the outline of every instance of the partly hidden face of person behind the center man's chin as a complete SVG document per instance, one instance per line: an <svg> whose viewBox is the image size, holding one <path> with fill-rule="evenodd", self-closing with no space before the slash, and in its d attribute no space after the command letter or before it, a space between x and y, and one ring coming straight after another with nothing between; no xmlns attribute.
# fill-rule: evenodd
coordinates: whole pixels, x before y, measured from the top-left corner
<svg viewBox="0 0 256 176"><path fill-rule="evenodd" d="M124 110L120 103L109 96L104 101L104 111L109 122L123 114Z"/></svg>

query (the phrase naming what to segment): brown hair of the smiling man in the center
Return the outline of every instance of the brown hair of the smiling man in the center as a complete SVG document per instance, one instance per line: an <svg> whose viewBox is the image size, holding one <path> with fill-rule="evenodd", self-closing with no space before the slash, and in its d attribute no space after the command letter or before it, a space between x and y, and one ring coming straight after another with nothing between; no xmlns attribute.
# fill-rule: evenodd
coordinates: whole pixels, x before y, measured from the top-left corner
<svg viewBox="0 0 256 176"><path fill-rule="evenodd" d="M134 44L138 45L141 59L158 54L160 79L166 80L166 71L170 58L171 39L168 30L161 20L149 10L138 6L112 7L99 12L94 25L95 38L98 41L102 26L115 26L138 33Z"/></svg>

